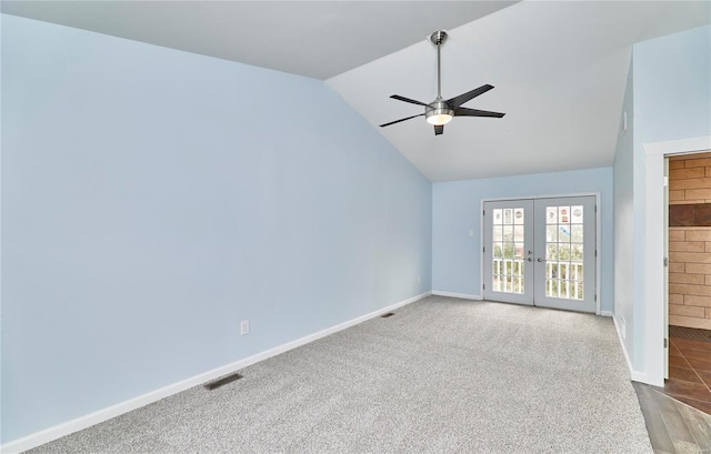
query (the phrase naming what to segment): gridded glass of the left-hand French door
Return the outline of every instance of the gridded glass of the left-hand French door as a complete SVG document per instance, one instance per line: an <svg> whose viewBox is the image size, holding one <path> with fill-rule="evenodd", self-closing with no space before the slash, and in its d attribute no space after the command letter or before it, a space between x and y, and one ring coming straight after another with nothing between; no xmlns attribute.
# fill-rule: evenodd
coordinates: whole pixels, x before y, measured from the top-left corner
<svg viewBox="0 0 711 454"><path fill-rule="evenodd" d="M495 292L524 293L523 208L492 211L491 287Z"/></svg>

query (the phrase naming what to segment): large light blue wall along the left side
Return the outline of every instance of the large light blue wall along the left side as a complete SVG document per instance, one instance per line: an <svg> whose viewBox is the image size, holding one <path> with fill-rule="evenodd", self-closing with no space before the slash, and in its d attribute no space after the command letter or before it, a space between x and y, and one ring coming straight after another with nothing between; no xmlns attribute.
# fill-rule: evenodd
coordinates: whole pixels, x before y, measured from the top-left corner
<svg viewBox="0 0 711 454"><path fill-rule="evenodd" d="M2 26L2 442L431 289L430 182L322 82Z"/></svg>

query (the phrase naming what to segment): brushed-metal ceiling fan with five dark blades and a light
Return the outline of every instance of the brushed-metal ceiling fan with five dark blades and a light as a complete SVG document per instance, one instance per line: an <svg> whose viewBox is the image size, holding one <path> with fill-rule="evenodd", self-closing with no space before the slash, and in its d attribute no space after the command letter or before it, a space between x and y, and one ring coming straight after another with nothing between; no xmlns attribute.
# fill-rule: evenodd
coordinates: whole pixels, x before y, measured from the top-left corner
<svg viewBox="0 0 711 454"><path fill-rule="evenodd" d="M399 94L391 95L390 98L397 99L398 101L423 105L424 113L391 121L389 123L381 124L380 128L389 127L391 124L400 123L401 121L424 115L424 118L427 119L427 122L434 125L434 135L440 135L444 132L444 124L449 123L452 120L452 117L491 117L491 118L500 119L501 117L505 115L505 113L489 112L485 110L468 109L468 108L461 107L464 102L470 101L477 98L478 95L483 94L489 90L491 90L493 87L489 84L481 85L478 89L473 89L471 91L468 91L467 93L462 93L459 97L444 100L442 98L442 70L440 64L440 47L444 43L444 41L447 41L447 32L444 30L439 30L433 32L430 36L430 41L432 41L432 43L437 46L437 98L434 99L434 101L430 102L429 104L425 104L424 102L417 101L410 98L404 98Z"/></svg>

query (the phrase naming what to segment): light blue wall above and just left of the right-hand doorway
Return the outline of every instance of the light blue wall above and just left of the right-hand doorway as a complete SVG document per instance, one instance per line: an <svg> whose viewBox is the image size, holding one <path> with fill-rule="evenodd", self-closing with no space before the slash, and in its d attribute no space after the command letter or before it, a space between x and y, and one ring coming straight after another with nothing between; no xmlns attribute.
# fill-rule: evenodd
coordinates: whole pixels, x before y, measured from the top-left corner
<svg viewBox="0 0 711 454"><path fill-rule="evenodd" d="M635 44L633 64L634 252L645 263L645 153L642 147L711 134L711 26ZM638 266L635 273L632 365L642 371L645 367L647 294L643 270Z"/></svg>

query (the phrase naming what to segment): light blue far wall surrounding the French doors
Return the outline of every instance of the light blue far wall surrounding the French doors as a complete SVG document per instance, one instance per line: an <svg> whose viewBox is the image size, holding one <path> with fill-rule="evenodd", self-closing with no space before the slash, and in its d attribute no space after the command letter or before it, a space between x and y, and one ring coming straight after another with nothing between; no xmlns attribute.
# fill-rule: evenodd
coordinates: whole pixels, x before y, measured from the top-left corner
<svg viewBox="0 0 711 454"><path fill-rule="evenodd" d="M482 200L573 193L600 193L600 306L612 311L612 168L432 184L432 290L481 295Z"/></svg>

